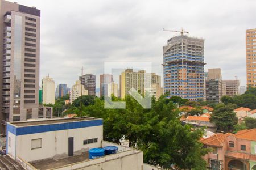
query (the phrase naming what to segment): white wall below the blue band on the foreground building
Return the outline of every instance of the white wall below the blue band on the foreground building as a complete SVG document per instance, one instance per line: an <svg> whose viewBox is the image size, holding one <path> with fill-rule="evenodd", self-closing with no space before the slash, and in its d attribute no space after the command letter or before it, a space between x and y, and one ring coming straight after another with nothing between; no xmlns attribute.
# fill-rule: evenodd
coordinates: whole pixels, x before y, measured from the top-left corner
<svg viewBox="0 0 256 170"><path fill-rule="evenodd" d="M89 148L101 147L103 139L103 126L92 126L45 133L18 135L16 138L16 155L27 162L46 159L64 158L68 156L68 138L74 137L74 155L89 150ZM31 140L42 138L42 148L31 150ZM83 145L83 140L98 138L97 143Z"/></svg>

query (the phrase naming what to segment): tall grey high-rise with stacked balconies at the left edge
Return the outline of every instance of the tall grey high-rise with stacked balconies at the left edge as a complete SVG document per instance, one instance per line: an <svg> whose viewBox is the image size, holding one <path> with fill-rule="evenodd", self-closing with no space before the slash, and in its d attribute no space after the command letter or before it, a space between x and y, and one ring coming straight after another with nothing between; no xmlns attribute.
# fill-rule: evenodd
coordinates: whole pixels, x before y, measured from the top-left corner
<svg viewBox="0 0 256 170"><path fill-rule="evenodd" d="M39 109L40 10L0 0L0 15L0 131L3 132L2 125L9 120L26 121L52 115Z"/></svg>

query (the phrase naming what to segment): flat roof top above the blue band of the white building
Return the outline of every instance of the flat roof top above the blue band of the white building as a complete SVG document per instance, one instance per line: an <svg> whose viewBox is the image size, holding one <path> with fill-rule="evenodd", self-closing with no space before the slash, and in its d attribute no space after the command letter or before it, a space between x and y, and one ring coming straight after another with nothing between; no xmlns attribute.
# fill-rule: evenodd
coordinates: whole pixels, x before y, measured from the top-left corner
<svg viewBox="0 0 256 170"><path fill-rule="evenodd" d="M79 121L88 121L88 120L100 120L100 118L94 118L94 117L53 118L49 120L10 122L10 124L19 127L19 126L32 126L32 125L61 124L66 122L79 122Z"/></svg>

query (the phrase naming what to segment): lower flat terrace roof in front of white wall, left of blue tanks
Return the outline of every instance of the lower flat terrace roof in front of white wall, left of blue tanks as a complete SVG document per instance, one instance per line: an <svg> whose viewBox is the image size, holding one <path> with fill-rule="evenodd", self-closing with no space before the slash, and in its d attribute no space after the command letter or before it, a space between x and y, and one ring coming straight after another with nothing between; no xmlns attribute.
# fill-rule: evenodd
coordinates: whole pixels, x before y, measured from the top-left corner
<svg viewBox="0 0 256 170"><path fill-rule="evenodd" d="M62 159L46 159L35 162L28 162L36 169L46 170L51 168L62 167L64 165L79 163L89 159L89 152L82 152L80 155L69 156Z"/></svg>

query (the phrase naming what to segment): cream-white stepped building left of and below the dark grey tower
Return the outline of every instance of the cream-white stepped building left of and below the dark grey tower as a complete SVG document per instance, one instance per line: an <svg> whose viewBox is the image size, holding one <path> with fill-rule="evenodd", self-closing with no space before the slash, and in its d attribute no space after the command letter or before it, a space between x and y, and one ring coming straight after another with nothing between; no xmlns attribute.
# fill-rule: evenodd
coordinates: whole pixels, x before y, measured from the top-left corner
<svg viewBox="0 0 256 170"><path fill-rule="evenodd" d="M88 90L85 90L84 85L81 85L80 80L76 81L76 84L72 86L72 89L69 93L69 101L72 104L74 100L79 96L88 95Z"/></svg>

